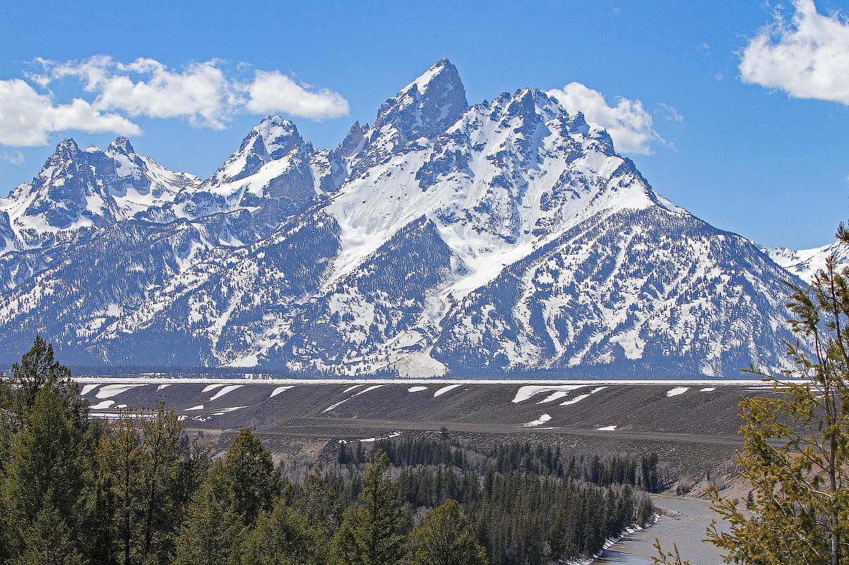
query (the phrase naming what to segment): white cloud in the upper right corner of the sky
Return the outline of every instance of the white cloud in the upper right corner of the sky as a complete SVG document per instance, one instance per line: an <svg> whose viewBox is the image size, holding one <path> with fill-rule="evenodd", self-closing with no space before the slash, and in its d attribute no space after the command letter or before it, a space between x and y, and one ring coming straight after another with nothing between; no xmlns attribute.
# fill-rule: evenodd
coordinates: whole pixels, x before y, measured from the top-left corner
<svg viewBox="0 0 849 565"><path fill-rule="evenodd" d="M849 20L823 15L812 0L796 0L787 21L780 13L740 54L741 78L796 98L849 104Z"/></svg>

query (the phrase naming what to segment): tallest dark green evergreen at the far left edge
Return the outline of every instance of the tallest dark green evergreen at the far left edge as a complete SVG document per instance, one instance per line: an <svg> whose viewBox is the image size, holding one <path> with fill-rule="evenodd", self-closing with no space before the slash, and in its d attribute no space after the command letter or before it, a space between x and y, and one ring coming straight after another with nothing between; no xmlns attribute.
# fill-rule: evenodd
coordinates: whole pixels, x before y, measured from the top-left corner
<svg viewBox="0 0 849 565"><path fill-rule="evenodd" d="M0 562L79 561L63 548L84 545L90 457L86 408L70 377L36 337L0 379ZM40 556L45 544L57 550Z"/></svg>

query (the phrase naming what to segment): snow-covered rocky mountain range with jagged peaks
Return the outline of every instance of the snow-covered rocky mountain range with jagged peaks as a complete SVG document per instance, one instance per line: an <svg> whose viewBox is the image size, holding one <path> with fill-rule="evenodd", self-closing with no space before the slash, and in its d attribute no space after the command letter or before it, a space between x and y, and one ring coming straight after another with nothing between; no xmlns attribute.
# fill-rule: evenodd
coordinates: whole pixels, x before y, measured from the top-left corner
<svg viewBox="0 0 849 565"><path fill-rule="evenodd" d="M0 360L405 376L779 367L788 272L534 88L442 59L314 148L268 116L201 182L59 144L0 199Z"/></svg>

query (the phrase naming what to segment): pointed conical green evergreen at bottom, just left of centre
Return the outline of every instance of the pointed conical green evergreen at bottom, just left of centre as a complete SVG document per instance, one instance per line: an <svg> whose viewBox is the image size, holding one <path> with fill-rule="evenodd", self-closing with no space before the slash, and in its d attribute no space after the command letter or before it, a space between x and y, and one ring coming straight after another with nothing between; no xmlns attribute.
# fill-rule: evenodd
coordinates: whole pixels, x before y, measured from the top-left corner
<svg viewBox="0 0 849 565"><path fill-rule="evenodd" d="M332 555L340 565L396 565L404 557L409 509L397 499L389 469L385 452L375 450L358 503L346 509L334 540Z"/></svg>

